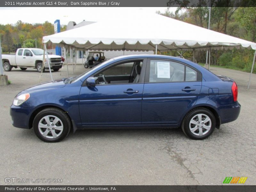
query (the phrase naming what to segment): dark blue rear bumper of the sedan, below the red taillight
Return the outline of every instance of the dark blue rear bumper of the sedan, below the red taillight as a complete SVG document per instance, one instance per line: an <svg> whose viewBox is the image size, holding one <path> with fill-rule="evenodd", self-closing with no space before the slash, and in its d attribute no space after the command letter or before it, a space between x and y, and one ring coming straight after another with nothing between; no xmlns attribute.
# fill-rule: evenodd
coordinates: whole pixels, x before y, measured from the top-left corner
<svg viewBox="0 0 256 192"><path fill-rule="evenodd" d="M233 105L217 106L221 124L235 121L241 110L241 105L236 101Z"/></svg>

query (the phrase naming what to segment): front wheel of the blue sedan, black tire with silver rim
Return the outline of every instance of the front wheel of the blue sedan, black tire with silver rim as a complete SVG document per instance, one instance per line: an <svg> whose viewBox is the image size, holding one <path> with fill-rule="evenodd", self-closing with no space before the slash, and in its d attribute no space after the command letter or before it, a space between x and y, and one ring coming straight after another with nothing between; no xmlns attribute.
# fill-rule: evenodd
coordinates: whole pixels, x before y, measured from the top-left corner
<svg viewBox="0 0 256 192"><path fill-rule="evenodd" d="M52 143L59 142L68 136L71 122L64 111L58 108L46 108L34 118L33 129L40 140Z"/></svg>

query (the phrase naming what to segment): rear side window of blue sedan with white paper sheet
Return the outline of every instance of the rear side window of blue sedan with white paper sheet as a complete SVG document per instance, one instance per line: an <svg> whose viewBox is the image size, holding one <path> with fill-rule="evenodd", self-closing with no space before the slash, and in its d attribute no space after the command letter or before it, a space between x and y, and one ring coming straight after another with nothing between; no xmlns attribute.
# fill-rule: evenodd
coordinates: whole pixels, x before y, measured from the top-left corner
<svg viewBox="0 0 256 192"><path fill-rule="evenodd" d="M197 81L197 71L167 60L150 60L149 83Z"/></svg>

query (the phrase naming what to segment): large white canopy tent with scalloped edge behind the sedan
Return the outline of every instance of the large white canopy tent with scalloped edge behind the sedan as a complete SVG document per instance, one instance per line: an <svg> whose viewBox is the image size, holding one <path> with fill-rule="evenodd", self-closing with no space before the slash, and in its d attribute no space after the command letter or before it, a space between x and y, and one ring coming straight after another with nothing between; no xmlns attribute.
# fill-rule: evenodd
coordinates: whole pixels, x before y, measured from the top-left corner
<svg viewBox="0 0 256 192"><path fill-rule="evenodd" d="M143 11L129 13L116 19L100 21L80 28L43 37L77 50L167 51L188 49L256 50L256 43L201 28L159 14ZM256 51L255 51L256 53ZM253 61L254 64L254 61ZM253 67L253 66L252 66Z"/></svg>

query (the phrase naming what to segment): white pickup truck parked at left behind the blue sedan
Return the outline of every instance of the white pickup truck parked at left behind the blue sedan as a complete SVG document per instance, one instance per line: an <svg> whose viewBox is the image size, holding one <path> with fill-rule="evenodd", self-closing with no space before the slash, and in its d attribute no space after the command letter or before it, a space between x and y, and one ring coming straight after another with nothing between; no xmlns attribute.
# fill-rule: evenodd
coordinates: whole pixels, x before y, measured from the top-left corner
<svg viewBox="0 0 256 192"><path fill-rule="evenodd" d="M21 70L27 68L36 68L38 72L42 70L44 50L36 48L20 48L17 50L15 55L2 55L3 68L5 71L11 71L12 68L19 67ZM58 71L63 65L63 59L59 55L49 55L51 69ZM45 55L45 69L49 69L48 60Z"/></svg>

